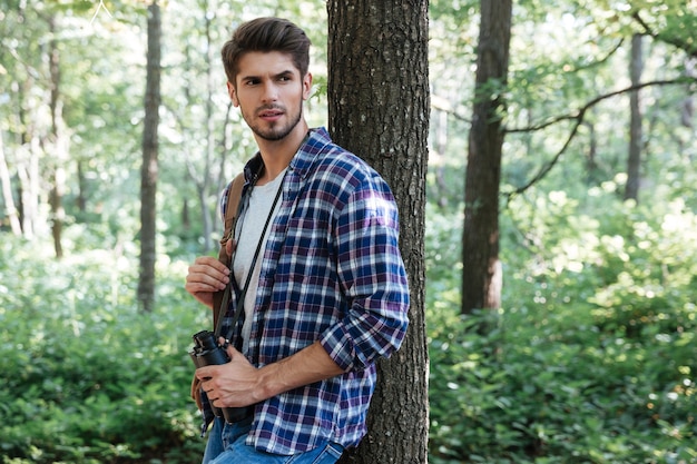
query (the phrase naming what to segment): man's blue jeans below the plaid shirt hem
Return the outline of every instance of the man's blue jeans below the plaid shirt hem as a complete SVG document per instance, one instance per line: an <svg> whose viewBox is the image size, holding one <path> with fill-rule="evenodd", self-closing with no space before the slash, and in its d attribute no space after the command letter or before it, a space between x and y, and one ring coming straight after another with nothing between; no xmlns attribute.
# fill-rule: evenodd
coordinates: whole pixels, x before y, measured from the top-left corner
<svg viewBox="0 0 697 464"><path fill-rule="evenodd" d="M325 442L292 456L265 453L245 444L251 427L252 418L230 425L216 417L208 433L203 464L334 464L344 451L336 443Z"/></svg>

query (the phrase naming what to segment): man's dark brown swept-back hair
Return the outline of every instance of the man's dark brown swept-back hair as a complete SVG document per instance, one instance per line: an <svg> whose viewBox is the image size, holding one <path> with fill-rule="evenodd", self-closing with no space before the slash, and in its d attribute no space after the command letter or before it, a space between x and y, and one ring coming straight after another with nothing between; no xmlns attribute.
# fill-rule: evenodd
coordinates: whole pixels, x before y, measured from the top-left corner
<svg viewBox="0 0 697 464"><path fill-rule="evenodd" d="M307 73L310 66L310 39L305 31L281 18L257 18L242 23L220 52L227 80L235 85L238 63L248 51L281 51L288 53L301 71Z"/></svg>

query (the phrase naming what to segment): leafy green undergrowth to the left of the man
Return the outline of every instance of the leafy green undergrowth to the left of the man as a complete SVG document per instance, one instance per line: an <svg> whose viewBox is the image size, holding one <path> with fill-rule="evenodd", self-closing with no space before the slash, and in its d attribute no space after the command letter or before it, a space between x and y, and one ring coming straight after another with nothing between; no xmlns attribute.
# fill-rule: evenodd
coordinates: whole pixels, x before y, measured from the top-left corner
<svg viewBox="0 0 697 464"><path fill-rule="evenodd" d="M183 265L167 263L159 309L139 314L137 260L128 251L95 249L55 263L45 259L50 249L3 237L2 462L200 457L187 351L190 335L207 324L205 312L193 310L184 296Z"/></svg>

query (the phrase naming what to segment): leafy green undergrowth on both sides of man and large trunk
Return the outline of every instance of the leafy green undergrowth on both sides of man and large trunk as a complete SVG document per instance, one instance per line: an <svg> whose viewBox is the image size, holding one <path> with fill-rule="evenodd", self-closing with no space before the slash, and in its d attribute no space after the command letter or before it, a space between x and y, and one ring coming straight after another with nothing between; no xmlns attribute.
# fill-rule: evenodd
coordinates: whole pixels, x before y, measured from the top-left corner
<svg viewBox="0 0 697 464"><path fill-rule="evenodd" d="M430 462L697 458L686 201L649 210L610 185L582 201L516 198L502 217L504 307L467 317L461 214L429 206ZM0 245L3 463L197 461L186 351L207 322L181 288L190 256L158 258L158 309L138 314L134 244L105 250L108 233L82 225L66 237L75 251L60 263L48 245Z"/></svg>

